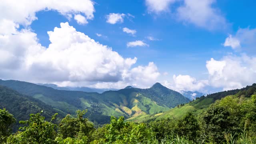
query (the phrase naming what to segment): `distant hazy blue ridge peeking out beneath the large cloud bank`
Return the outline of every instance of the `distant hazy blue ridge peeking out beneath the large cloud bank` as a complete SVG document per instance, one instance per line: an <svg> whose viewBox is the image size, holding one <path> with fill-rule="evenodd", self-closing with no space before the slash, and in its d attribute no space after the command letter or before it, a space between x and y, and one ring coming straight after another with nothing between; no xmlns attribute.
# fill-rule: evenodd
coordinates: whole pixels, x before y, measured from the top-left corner
<svg viewBox="0 0 256 144"><path fill-rule="evenodd" d="M38 84L42 86L47 86L50 88L54 88L56 90L72 90L72 91L82 91L82 92L98 92L101 94L102 92L106 92L108 90L118 90L115 88L88 88L88 87L70 87L70 86L65 86L65 87L60 87L56 84Z"/></svg>

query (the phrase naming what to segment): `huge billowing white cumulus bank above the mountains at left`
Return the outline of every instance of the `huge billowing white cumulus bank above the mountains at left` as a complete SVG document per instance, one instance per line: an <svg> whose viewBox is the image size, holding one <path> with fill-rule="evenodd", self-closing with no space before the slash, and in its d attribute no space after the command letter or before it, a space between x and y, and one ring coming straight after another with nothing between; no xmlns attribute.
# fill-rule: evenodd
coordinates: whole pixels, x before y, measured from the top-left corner
<svg viewBox="0 0 256 144"><path fill-rule="evenodd" d="M123 58L110 47L77 32L68 22L61 23L60 28L54 28L48 35L51 42L48 48L41 46L36 34L29 30L0 37L0 75L62 85L87 82L138 86L148 85L159 76L153 62L131 68L136 57Z"/></svg>

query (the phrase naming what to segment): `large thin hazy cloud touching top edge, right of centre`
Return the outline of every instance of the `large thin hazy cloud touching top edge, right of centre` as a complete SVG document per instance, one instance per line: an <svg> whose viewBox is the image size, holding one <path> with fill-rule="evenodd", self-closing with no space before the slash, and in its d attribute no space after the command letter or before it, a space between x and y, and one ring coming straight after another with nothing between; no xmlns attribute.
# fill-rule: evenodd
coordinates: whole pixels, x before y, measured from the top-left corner
<svg viewBox="0 0 256 144"><path fill-rule="evenodd" d="M184 0L184 5L177 9L178 19L208 30L226 28L226 19L212 6L215 1Z"/></svg>

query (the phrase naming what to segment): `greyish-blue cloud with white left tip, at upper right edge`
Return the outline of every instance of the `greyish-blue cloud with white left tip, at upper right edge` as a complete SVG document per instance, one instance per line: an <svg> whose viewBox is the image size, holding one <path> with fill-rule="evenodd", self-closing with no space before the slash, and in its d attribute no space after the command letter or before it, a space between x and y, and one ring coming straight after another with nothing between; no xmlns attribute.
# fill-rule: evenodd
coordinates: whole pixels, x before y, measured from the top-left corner
<svg viewBox="0 0 256 144"><path fill-rule="evenodd" d="M229 35L224 46L230 46L232 49L255 48L256 46L256 28L239 28L234 36Z"/></svg>

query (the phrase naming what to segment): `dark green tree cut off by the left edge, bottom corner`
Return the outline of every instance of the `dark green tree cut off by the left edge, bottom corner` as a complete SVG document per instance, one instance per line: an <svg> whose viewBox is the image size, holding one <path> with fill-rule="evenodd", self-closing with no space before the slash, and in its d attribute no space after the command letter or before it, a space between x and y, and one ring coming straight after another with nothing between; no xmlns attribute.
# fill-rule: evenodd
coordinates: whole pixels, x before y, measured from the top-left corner
<svg viewBox="0 0 256 144"><path fill-rule="evenodd" d="M16 122L8 110L0 109L0 143L4 143L6 138L11 135L11 126Z"/></svg>

